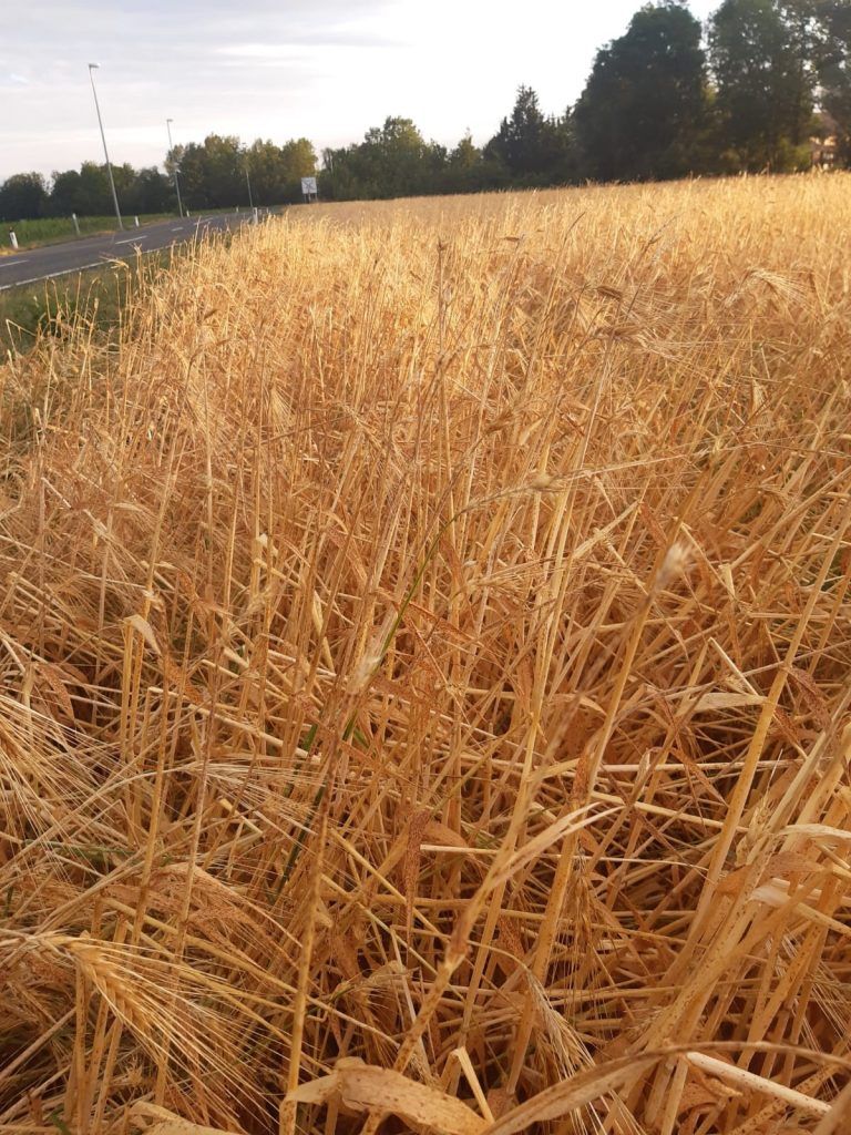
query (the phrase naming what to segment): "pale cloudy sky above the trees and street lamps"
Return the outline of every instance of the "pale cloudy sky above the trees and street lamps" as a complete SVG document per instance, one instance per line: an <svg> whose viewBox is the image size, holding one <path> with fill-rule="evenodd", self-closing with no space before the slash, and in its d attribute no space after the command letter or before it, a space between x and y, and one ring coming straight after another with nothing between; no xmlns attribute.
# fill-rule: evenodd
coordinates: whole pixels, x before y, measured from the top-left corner
<svg viewBox="0 0 851 1135"><path fill-rule="evenodd" d="M487 141L517 86L547 114L580 94L641 0L0 0L0 180L102 160L162 162L207 134L317 151L388 115ZM718 0L691 0L706 19ZM15 16L12 17L12 6Z"/></svg>

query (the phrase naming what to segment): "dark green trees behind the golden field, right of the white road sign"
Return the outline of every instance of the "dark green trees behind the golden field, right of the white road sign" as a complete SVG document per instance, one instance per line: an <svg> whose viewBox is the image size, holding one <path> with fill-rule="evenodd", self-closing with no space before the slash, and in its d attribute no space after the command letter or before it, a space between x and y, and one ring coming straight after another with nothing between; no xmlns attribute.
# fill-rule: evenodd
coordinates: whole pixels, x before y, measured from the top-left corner
<svg viewBox="0 0 851 1135"><path fill-rule="evenodd" d="M814 146L814 140L832 144ZM574 106L546 116L523 86L478 148L447 150L407 118L322 154L336 200L851 166L849 0L724 0L706 28L657 0L597 52Z"/></svg>

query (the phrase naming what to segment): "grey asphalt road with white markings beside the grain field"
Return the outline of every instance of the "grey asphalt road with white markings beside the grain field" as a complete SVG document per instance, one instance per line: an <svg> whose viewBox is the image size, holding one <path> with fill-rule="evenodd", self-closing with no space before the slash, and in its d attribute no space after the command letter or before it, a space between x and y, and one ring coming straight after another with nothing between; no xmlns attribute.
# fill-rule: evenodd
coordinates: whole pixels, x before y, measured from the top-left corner
<svg viewBox="0 0 851 1135"><path fill-rule="evenodd" d="M52 279L68 272L100 268L110 260L127 260L142 252L155 252L172 244L192 241L208 232L238 228L251 219L250 213L221 213L214 217L175 217L142 228L127 228L124 233L106 236L86 236L67 244L49 244L0 257L0 292L24 284Z"/></svg>

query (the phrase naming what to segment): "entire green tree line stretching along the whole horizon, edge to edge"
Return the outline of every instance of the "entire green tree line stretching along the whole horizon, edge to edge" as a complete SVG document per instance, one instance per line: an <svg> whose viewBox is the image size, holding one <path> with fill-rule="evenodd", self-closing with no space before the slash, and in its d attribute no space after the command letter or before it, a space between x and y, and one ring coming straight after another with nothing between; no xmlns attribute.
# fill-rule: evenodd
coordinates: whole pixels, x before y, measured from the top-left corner
<svg viewBox="0 0 851 1135"><path fill-rule="evenodd" d="M545 186L585 179L648 180L689 174L808 168L812 140L851 166L849 0L723 0L706 27L684 0L644 5L623 35L600 48L582 94L547 116L522 86L483 146L465 135L449 149L428 142L410 118L388 117L362 142L322 152L319 194L328 200ZM115 167L128 212L175 208L178 170L189 208L301 200L317 173L306 138L283 146L210 135L176 146L166 173ZM247 176L246 176L247 175ZM248 186L251 185L251 190ZM106 168L10 177L0 217L108 213Z"/></svg>

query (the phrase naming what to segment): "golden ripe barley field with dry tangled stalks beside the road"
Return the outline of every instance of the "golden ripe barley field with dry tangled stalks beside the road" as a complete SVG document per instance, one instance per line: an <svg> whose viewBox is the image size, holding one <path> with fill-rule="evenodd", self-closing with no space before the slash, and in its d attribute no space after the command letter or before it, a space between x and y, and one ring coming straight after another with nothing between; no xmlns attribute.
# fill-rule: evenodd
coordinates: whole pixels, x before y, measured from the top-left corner
<svg viewBox="0 0 851 1135"><path fill-rule="evenodd" d="M0 367L0 1135L851 1130L851 175L292 210Z"/></svg>

